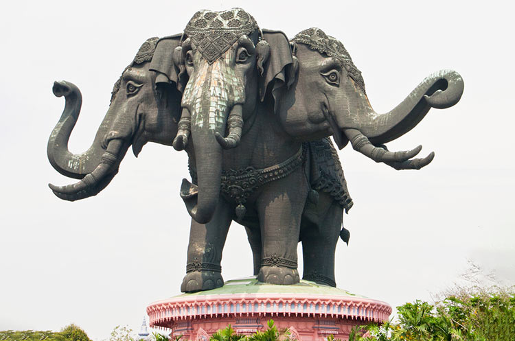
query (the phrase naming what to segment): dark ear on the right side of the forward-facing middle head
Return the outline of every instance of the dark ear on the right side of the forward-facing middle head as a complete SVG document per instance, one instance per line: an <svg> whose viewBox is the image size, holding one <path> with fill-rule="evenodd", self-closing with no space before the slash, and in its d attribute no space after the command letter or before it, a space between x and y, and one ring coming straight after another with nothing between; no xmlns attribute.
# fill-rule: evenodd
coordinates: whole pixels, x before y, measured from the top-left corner
<svg viewBox="0 0 515 341"><path fill-rule="evenodd" d="M262 30L263 39L270 45L270 56L264 65L264 72L260 79L260 96L271 93L277 104L277 96L281 89L288 87L295 81L296 63L291 53L288 37L281 31Z"/></svg>

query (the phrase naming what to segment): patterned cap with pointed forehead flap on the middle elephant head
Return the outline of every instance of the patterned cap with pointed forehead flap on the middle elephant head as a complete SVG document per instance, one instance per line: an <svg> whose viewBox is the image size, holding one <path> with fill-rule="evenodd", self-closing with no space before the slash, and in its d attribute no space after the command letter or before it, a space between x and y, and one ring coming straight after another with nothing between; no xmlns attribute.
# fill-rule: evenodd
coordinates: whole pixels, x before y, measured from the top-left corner
<svg viewBox="0 0 515 341"><path fill-rule="evenodd" d="M195 49L212 64L244 34L259 30L254 18L241 8L222 12L200 10L194 14L184 30Z"/></svg>

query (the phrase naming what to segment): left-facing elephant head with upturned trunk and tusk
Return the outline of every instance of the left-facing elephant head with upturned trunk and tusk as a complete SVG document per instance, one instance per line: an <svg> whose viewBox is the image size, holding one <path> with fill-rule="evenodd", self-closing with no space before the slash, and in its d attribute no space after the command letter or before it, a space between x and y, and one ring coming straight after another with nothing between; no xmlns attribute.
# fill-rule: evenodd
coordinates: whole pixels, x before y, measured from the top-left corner
<svg viewBox="0 0 515 341"><path fill-rule="evenodd" d="M82 154L72 154L67 148L80 113L80 91L69 82L54 82L54 95L65 96L66 104L48 141L48 159L60 174L82 179L67 186L49 184L56 196L70 201L95 196L117 174L130 145L137 156L148 141L172 144L180 96L174 94L176 90L171 86L155 86L156 79L162 75L150 71L150 60L170 44L176 47L179 39L180 36L150 38L141 45L133 62L115 83L111 104L93 144Z"/></svg>

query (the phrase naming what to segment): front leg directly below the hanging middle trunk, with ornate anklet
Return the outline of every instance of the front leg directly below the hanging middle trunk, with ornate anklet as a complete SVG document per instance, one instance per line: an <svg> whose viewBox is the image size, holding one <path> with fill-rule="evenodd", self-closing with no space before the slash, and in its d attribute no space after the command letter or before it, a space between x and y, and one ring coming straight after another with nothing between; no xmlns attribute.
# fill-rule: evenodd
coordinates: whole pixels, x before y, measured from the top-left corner
<svg viewBox="0 0 515 341"><path fill-rule="evenodd" d="M192 219L181 292L210 290L224 285L220 261L232 213L230 205L220 198L210 222L199 224Z"/></svg>

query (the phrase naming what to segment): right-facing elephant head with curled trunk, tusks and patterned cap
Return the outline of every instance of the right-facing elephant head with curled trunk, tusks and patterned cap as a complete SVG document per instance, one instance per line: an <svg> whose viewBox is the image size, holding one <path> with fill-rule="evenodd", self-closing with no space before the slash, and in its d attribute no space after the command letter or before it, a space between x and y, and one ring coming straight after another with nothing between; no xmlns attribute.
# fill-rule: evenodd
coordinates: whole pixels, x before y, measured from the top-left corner
<svg viewBox="0 0 515 341"><path fill-rule="evenodd" d="M384 143L414 128L430 108L456 104L464 82L455 71L439 71L420 83L404 101L385 114L376 113L365 82L343 44L318 28L292 40L299 62L297 80L279 101L279 119L293 137L313 139L332 135L338 147L348 141L358 152L396 169L420 169L433 160L415 158L422 146L389 152Z"/></svg>

